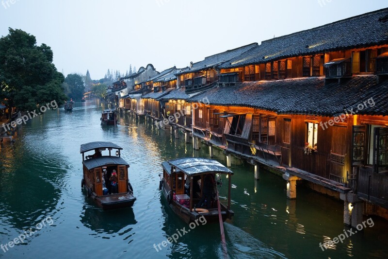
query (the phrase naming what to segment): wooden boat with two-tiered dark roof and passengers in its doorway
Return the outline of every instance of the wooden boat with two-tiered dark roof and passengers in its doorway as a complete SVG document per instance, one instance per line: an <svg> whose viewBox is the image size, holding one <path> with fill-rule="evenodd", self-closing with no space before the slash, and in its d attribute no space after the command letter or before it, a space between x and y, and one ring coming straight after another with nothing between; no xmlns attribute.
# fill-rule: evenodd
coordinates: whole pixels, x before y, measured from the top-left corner
<svg viewBox="0 0 388 259"><path fill-rule="evenodd" d="M102 155L101 152L106 150L109 151L109 155ZM111 154L112 150L116 150L115 156ZM136 200L128 177L129 164L121 158L120 150L122 148L112 142L98 141L81 145L83 164L81 187L85 188L88 197L93 198L104 210L131 207ZM85 156L89 151L94 151L95 154ZM114 192L113 187L108 183L113 171L117 172L117 193L109 194L109 189ZM105 182L106 189L104 189Z"/></svg>

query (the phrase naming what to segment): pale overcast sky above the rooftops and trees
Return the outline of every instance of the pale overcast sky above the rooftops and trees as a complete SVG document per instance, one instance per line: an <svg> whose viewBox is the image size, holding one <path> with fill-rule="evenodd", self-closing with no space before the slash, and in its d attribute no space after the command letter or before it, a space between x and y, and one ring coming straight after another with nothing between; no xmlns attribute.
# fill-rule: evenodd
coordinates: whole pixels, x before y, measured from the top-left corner
<svg viewBox="0 0 388 259"><path fill-rule="evenodd" d="M12 2L14 3L12 3ZM386 0L0 0L8 27L36 36L67 75L158 71L275 36L378 10Z"/></svg>

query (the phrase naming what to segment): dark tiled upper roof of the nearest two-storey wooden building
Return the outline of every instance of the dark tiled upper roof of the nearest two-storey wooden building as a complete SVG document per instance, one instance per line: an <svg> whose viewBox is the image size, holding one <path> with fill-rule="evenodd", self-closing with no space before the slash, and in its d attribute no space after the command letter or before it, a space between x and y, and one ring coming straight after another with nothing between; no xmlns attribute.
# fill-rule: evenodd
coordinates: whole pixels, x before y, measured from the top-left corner
<svg viewBox="0 0 388 259"><path fill-rule="evenodd" d="M311 55L388 43L388 8L320 27L263 41L223 64L221 69L262 64L292 56Z"/></svg>

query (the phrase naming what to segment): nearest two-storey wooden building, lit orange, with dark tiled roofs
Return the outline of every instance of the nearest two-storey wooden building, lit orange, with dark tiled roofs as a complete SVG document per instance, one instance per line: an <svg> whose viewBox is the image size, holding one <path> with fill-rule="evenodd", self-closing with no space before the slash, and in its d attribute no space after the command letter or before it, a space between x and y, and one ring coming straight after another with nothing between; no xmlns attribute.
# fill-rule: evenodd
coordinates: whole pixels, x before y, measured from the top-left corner
<svg viewBox="0 0 388 259"><path fill-rule="evenodd" d="M382 9L214 65L216 86L188 100L194 138L283 173L290 198L296 180L332 190L345 224L362 212L388 218L387 32Z"/></svg>

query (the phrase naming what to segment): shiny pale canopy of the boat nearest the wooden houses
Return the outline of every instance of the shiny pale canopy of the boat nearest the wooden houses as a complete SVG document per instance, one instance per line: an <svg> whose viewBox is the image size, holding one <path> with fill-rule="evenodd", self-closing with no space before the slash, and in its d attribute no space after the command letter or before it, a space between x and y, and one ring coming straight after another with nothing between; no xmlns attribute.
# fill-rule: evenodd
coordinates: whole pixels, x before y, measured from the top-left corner
<svg viewBox="0 0 388 259"><path fill-rule="evenodd" d="M195 176L205 173L226 173L233 174L223 164L218 161L200 158L200 157L184 157L168 161L168 164L176 168L176 172L183 172L190 176ZM162 164L163 165L163 164ZM163 165L165 167L166 164ZM167 168L166 168L167 169ZM167 170L170 173L171 170Z"/></svg>

